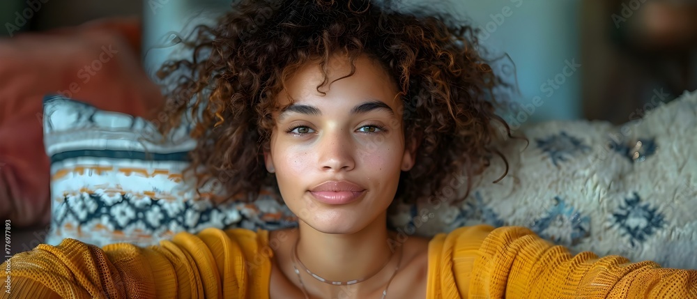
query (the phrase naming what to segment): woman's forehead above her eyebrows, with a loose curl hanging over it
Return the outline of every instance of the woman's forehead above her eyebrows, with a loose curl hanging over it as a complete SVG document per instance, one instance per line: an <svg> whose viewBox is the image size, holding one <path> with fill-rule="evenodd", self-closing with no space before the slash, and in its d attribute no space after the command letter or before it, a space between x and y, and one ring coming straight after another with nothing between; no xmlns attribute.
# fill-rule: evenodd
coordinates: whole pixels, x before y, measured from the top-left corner
<svg viewBox="0 0 697 299"><path fill-rule="evenodd" d="M307 61L286 78L285 89L279 93L277 104L285 107L291 103L330 98L349 101L379 100L392 109L401 106L397 85L378 61L361 55L355 59L353 66L355 70L351 75L351 61L348 57L335 54L328 60L325 74L319 60Z"/></svg>

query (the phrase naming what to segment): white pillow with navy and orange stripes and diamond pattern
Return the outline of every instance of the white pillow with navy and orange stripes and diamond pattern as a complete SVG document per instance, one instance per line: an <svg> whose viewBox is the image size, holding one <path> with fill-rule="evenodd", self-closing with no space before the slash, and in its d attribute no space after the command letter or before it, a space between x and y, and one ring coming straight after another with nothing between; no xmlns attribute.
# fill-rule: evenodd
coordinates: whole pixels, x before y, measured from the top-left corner
<svg viewBox="0 0 697 299"><path fill-rule="evenodd" d="M46 243L75 238L95 245L152 245L207 227L276 229L292 213L262 192L254 204L213 204L185 180L195 146L183 125L162 142L143 118L106 112L61 96L44 100L44 141L51 160L51 229ZM219 190L210 187L210 192Z"/></svg>

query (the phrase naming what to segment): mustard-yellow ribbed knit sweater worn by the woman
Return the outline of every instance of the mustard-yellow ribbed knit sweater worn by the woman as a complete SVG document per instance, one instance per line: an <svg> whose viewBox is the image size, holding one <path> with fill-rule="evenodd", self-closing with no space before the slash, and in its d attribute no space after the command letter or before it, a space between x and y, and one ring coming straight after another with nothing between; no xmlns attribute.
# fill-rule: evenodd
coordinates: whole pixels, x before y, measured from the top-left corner
<svg viewBox="0 0 697 299"><path fill-rule="evenodd" d="M3 263L1 298L268 298L271 256L268 231L245 229L178 233L146 248L66 239ZM697 271L572 256L529 229L480 225L431 240L427 297L697 298Z"/></svg>

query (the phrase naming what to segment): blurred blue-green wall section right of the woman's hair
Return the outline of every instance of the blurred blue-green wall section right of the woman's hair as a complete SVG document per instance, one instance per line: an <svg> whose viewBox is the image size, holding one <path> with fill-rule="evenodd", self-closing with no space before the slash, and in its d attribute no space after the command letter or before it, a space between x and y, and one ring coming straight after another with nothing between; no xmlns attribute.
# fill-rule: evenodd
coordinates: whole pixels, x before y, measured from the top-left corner
<svg viewBox="0 0 697 299"><path fill-rule="evenodd" d="M523 95L520 101L532 104L539 96L537 103L541 100L542 105L532 114L526 112L528 121L581 117L581 0L452 0L452 6L485 32L491 31L491 36L483 40L486 47L511 56ZM498 15L504 11L509 16L500 22ZM496 26L489 24L487 29L489 22ZM564 80L558 77L558 82L564 83L550 95L551 86L542 84L563 72L565 61L581 67L576 72L567 68L567 74L572 75L564 76Z"/></svg>

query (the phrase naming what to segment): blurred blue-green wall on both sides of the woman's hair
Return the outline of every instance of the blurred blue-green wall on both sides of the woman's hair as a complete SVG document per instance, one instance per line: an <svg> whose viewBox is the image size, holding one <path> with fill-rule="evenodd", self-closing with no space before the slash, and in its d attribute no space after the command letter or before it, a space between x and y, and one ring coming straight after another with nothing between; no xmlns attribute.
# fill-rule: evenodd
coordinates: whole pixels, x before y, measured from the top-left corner
<svg viewBox="0 0 697 299"><path fill-rule="evenodd" d="M192 17L200 16L201 10L214 14L226 11L229 9L229 2L145 0L144 49L166 45L168 31L181 31ZM504 116L507 121L515 124L515 117L522 124L581 117L581 0L411 0L404 3L406 6L409 3L420 3L452 9L488 33L480 37L482 44L493 52L492 55L505 52L511 56L517 68L521 91L521 96L516 100L527 108L514 110L514 115ZM204 20L212 19L213 17L204 17ZM144 58L146 68L152 73L176 48L178 47L152 49ZM575 72L567 68L567 74L571 75L560 76L567 66L566 61L580 63L581 68ZM558 80L563 79L564 83L554 89L546 83L556 76ZM539 98L535 98L536 96ZM534 107L535 111L531 112L530 107ZM523 115L520 114L521 111L524 112Z"/></svg>

